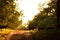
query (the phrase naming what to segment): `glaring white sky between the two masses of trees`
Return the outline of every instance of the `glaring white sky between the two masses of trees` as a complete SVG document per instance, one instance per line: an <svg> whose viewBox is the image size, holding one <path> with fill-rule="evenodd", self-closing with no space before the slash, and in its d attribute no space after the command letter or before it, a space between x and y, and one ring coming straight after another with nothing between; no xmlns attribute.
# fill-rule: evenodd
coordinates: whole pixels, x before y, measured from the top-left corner
<svg viewBox="0 0 60 40"><path fill-rule="evenodd" d="M28 23L28 20L32 20L36 14L39 13L38 10L38 4L40 3L44 5L45 8L48 7L47 3L49 3L50 0L15 0L16 3L16 10L19 12L20 10L23 10L22 21L23 25ZM20 19L20 18L19 18Z"/></svg>

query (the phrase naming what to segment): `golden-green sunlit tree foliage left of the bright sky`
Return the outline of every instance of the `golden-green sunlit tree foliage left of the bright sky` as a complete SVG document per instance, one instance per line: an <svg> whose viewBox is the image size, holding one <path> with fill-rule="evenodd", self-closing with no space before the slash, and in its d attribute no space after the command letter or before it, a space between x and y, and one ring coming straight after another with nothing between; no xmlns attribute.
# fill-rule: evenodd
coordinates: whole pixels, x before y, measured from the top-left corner
<svg viewBox="0 0 60 40"><path fill-rule="evenodd" d="M14 0L0 0L0 25L8 25L8 28L18 27L22 21L18 19L21 12L15 10Z"/></svg>

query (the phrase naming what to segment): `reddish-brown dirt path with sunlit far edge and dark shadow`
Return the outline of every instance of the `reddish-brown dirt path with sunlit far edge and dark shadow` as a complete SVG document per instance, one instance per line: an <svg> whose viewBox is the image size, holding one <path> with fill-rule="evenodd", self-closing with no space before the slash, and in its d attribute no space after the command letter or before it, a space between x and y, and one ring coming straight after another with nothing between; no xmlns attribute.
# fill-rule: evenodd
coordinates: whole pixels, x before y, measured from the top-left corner
<svg viewBox="0 0 60 40"><path fill-rule="evenodd" d="M32 33L25 30L13 30L7 35L7 40L32 40Z"/></svg>

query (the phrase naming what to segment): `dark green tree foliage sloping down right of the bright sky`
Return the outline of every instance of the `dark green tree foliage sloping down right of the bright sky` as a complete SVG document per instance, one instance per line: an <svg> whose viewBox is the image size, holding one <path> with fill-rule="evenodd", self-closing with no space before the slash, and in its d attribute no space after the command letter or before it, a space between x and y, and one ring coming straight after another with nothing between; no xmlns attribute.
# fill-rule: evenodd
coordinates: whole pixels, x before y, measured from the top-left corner
<svg viewBox="0 0 60 40"><path fill-rule="evenodd" d="M48 8L43 8L41 13L37 14L32 21L29 22L28 28L29 29L46 29L47 27L54 27L56 28L57 25L57 13L56 13L56 2L51 0L48 3Z"/></svg>

